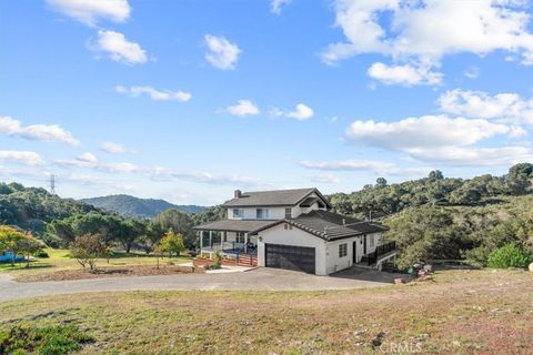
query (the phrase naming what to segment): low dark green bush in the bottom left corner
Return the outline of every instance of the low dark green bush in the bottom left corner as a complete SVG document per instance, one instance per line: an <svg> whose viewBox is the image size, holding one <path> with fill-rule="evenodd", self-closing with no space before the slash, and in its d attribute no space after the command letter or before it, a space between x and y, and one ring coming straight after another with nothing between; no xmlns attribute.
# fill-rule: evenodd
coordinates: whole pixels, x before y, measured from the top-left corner
<svg viewBox="0 0 533 355"><path fill-rule="evenodd" d="M81 349L94 339L72 325L13 326L0 331L0 354L62 355Z"/></svg>

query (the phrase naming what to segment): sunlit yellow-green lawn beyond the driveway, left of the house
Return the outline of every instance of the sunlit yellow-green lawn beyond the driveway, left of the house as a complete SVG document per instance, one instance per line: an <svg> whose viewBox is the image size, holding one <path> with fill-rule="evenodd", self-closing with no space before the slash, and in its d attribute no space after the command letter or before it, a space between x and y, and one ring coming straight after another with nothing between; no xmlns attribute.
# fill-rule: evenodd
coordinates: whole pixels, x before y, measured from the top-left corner
<svg viewBox="0 0 533 355"><path fill-rule="evenodd" d="M26 268L26 262L19 262L14 266L9 263L0 264L0 272L10 273L14 278L23 278L26 276L53 273L60 271L80 270L81 265L76 258L70 257L68 250L46 248L44 250L50 257L36 258L30 263L30 268ZM188 256L162 258L161 263L169 264L183 263L189 261ZM97 262L98 267L130 267L130 266L155 266L157 258L153 255L147 255L144 253L114 253L109 260L99 260Z"/></svg>

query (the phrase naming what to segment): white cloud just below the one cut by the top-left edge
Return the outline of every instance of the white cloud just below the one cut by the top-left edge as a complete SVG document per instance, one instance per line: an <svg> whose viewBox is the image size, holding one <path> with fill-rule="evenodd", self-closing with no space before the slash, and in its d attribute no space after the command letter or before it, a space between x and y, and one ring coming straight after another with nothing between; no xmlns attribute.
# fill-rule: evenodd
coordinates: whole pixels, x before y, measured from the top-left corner
<svg viewBox="0 0 533 355"><path fill-rule="evenodd" d="M123 33L99 30L98 40L89 44L89 49L104 52L112 60L128 64L142 64L148 61L147 52L135 42L129 41Z"/></svg>

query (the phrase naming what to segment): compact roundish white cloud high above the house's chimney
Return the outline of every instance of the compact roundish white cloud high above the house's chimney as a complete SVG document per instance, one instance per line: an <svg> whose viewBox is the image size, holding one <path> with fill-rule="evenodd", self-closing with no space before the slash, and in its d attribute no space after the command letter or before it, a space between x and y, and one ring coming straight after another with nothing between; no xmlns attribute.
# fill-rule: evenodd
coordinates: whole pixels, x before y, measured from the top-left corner
<svg viewBox="0 0 533 355"><path fill-rule="evenodd" d="M235 69L239 54L242 52L235 43L231 43L223 37L205 34L208 52L205 60L213 67L222 70Z"/></svg>

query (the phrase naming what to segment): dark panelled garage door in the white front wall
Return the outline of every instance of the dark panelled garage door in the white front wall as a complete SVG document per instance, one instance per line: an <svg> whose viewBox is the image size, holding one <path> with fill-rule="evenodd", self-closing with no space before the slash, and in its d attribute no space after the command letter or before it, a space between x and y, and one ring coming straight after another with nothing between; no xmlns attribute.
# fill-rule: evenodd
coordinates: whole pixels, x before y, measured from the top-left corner
<svg viewBox="0 0 533 355"><path fill-rule="evenodd" d="M314 247L268 243L264 246L264 258L266 267L295 270L314 274Z"/></svg>

